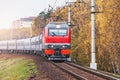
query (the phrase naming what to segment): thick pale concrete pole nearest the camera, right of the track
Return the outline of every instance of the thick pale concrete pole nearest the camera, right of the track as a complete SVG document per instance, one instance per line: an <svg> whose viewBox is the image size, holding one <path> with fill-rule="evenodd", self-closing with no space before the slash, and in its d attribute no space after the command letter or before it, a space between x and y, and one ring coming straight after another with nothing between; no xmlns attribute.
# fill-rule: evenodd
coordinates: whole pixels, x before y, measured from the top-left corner
<svg viewBox="0 0 120 80"><path fill-rule="evenodd" d="M95 51L95 0L91 0L91 63L90 68L97 70Z"/></svg>

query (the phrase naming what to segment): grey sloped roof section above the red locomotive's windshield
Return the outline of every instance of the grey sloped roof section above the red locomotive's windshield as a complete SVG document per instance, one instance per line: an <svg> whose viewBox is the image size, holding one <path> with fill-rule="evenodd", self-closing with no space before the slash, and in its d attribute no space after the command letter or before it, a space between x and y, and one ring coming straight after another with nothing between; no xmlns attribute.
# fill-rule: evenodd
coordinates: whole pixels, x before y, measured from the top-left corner
<svg viewBox="0 0 120 80"><path fill-rule="evenodd" d="M49 22L46 28L55 28L57 25L60 26L61 28L69 28L66 22Z"/></svg>

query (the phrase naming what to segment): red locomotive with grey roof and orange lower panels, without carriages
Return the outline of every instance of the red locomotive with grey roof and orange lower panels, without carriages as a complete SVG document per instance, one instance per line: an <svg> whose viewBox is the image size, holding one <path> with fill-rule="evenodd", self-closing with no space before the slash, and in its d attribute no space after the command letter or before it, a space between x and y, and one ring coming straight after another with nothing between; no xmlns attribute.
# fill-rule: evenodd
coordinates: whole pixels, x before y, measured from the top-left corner
<svg viewBox="0 0 120 80"><path fill-rule="evenodd" d="M49 23L43 36L43 50L49 60L70 60L71 30L65 22Z"/></svg>

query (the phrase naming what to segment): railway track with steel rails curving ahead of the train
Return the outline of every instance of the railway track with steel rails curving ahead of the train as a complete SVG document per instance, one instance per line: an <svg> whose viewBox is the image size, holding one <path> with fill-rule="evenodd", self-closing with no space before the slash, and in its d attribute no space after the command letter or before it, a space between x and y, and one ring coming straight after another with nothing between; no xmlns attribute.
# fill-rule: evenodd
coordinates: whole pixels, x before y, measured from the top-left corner
<svg viewBox="0 0 120 80"><path fill-rule="evenodd" d="M52 63L78 80L120 80L119 78L115 78L95 70L87 69L74 63Z"/></svg>

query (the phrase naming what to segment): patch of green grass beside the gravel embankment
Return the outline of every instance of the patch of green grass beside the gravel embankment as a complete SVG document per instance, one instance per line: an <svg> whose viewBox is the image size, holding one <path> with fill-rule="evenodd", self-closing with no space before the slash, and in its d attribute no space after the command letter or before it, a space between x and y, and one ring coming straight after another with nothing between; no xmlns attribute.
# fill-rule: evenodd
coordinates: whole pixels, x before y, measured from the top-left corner
<svg viewBox="0 0 120 80"><path fill-rule="evenodd" d="M24 80L31 74L37 73L37 68L31 59L0 59L0 80Z"/></svg>

